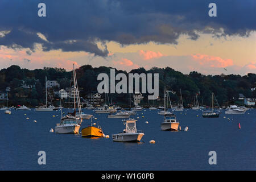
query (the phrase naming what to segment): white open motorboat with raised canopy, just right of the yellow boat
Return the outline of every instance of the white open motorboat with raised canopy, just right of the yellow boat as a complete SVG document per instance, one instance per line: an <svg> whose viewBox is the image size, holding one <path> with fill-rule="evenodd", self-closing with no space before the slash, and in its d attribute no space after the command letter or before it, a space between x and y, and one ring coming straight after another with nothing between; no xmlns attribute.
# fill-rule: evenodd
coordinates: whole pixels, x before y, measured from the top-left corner
<svg viewBox="0 0 256 182"><path fill-rule="evenodd" d="M136 128L135 119L127 119L123 121L126 125L126 128L123 130L123 133L112 135L114 142L140 142L144 133L138 133Z"/></svg>

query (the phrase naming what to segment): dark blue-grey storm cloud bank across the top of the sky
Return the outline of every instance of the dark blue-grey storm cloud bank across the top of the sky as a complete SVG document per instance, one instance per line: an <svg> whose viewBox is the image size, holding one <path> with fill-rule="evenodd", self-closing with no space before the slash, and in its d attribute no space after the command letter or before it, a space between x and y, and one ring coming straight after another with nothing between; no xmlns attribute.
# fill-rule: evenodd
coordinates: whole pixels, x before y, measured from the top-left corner
<svg viewBox="0 0 256 182"><path fill-rule="evenodd" d="M38 17L40 2L46 3L47 17ZM211 2L217 4L217 17L208 16ZM256 29L255 5L253 0L2 0L0 31L11 32L0 38L0 45L33 50L34 43L41 43L44 51L62 49L106 56L108 49L99 48L98 40L113 40L123 45L150 41L177 44L182 34L197 40L198 32L248 36ZM224 28L221 34L220 28ZM39 38L38 32L48 41Z"/></svg>

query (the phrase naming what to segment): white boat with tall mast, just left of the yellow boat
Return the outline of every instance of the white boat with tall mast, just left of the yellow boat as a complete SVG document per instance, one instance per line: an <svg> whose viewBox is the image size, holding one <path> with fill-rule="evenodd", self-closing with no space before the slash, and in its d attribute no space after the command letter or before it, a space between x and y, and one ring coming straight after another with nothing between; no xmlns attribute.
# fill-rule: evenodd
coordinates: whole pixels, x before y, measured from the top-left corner
<svg viewBox="0 0 256 182"><path fill-rule="evenodd" d="M81 103L80 103L80 97L79 97L79 89L77 86L77 80L76 80L76 71L73 64L73 96L74 96L74 111L73 113L68 113L68 115L65 115L63 117L62 115L62 109L61 111L61 119L60 123L57 123L55 126L55 132L61 133L61 134L78 134L79 129L82 123L81 117L76 117L76 104L79 109L79 115L81 116ZM61 102L60 102L61 105Z"/></svg>

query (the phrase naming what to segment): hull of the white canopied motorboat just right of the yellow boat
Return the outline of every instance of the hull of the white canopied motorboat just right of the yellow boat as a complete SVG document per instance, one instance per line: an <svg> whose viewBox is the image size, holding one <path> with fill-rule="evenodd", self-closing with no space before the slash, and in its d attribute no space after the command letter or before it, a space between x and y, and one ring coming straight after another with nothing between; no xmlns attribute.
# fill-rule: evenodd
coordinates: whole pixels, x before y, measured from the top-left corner
<svg viewBox="0 0 256 182"><path fill-rule="evenodd" d="M140 142L144 133L119 133L112 135L114 142Z"/></svg>

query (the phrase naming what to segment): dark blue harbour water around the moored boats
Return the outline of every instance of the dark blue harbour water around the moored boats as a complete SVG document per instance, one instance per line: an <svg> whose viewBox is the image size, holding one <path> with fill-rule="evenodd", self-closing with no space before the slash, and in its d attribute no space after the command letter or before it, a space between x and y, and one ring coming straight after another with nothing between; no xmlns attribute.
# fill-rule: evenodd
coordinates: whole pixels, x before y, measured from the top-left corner
<svg viewBox="0 0 256 182"><path fill-rule="evenodd" d="M64 111L67 112L67 109ZM91 113L85 110L85 113ZM137 129L144 142L118 143L112 134L124 129L121 119L94 114L110 138L88 139L73 134L49 133L60 121L60 111L0 111L1 170L255 170L256 111L203 118L201 111L177 112L181 129L161 131L158 111L138 112ZM24 115L24 114L27 115ZM142 114L143 113L143 114ZM185 115L185 113L187 113ZM55 117L53 117L55 115ZM58 115L58 116L57 116ZM142 118L144 115L144 118ZM197 117L199 115L199 117ZM224 116L226 118L224 118ZM26 119L26 118L30 119ZM230 118L228 120L227 118ZM36 123L33 122L36 120ZM145 122L149 123L146 124ZM241 123L241 129L238 129ZM90 125L85 120L82 127ZM151 139L155 144L148 143ZM209 151L217 152L217 165L209 165ZM46 152L46 165L38 164L38 151Z"/></svg>

